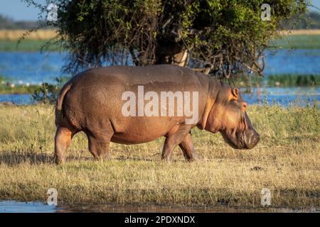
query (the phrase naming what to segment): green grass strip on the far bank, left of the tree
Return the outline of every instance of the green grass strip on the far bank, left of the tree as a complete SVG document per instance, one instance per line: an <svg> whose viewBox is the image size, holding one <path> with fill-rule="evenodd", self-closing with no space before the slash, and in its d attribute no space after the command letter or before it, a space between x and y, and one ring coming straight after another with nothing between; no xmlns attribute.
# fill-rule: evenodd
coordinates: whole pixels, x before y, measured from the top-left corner
<svg viewBox="0 0 320 227"><path fill-rule="evenodd" d="M0 51L39 51L48 40L21 40L17 46L17 40L0 40ZM58 51L58 47L50 45L46 51Z"/></svg>

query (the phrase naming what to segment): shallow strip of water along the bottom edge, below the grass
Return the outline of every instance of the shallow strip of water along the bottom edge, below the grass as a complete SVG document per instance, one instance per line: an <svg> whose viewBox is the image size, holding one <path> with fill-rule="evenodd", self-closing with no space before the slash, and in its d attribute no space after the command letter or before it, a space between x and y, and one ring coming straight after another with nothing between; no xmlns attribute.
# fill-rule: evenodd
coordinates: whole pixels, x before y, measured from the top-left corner
<svg viewBox="0 0 320 227"><path fill-rule="evenodd" d="M112 212L112 213L132 213L132 212L149 212L149 213L243 213L243 212L315 212L319 213L319 209L287 209L287 208L260 208L260 209L236 209L230 207L216 208L198 208L192 209L188 207L171 207L171 206L119 206L114 204L102 205L83 205L83 206L55 206L47 205L38 201L21 202L21 201L0 201L0 213L65 213L65 212Z"/></svg>

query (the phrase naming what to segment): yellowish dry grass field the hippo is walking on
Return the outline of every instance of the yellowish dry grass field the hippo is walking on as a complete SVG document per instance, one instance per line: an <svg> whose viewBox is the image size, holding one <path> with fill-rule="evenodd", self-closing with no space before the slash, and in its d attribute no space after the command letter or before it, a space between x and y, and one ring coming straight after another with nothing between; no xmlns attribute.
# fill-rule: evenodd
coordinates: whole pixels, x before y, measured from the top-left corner
<svg viewBox="0 0 320 227"><path fill-rule="evenodd" d="M160 160L163 138L141 145L112 143L112 159L95 162L82 133L68 162L53 164L53 106L0 106L0 200L58 204L232 206L260 208L269 188L272 207L320 208L319 107L250 106L261 135L252 150L233 150L219 134L193 130L203 160L185 162L180 150Z"/></svg>

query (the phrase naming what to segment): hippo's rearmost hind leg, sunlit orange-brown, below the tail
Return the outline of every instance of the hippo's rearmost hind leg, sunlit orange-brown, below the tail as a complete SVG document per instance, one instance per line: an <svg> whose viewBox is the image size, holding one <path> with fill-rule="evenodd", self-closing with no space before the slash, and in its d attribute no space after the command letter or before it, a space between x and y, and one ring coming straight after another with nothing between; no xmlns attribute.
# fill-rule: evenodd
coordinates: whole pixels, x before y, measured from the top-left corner
<svg viewBox="0 0 320 227"><path fill-rule="evenodd" d="M55 132L55 163L65 162L65 155L73 138L74 133L69 128L57 126Z"/></svg>

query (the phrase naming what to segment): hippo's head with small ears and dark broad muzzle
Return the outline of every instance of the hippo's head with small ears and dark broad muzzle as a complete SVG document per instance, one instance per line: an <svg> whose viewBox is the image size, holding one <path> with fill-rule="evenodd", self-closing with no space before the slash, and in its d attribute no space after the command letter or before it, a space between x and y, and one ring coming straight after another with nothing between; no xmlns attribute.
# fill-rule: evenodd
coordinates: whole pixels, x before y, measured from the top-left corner
<svg viewBox="0 0 320 227"><path fill-rule="evenodd" d="M257 145L259 134L253 128L245 110L247 104L236 88L221 84L220 91L212 101L205 129L212 133L218 131L225 142L235 149L251 149Z"/></svg>

